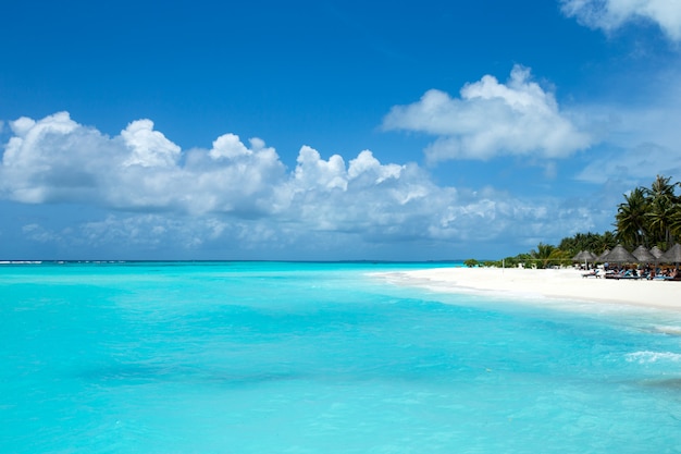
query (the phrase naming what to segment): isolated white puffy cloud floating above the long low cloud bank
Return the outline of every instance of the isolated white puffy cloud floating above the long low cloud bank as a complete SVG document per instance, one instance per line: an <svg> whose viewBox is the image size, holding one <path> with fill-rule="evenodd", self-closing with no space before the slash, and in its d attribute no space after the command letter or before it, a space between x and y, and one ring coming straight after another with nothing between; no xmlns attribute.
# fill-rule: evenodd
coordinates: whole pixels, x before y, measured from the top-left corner
<svg viewBox="0 0 681 454"><path fill-rule="evenodd" d="M592 143L520 65L506 84L485 75L461 88L460 98L429 90L418 102L394 107L383 127L436 136L425 149L432 162L502 155L565 158Z"/></svg>

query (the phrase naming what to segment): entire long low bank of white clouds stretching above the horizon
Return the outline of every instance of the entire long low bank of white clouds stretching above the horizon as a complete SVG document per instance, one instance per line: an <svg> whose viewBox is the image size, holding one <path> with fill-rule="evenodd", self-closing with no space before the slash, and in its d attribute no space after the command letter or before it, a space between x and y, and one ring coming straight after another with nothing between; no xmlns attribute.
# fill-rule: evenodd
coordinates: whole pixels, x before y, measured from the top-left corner
<svg viewBox="0 0 681 454"><path fill-rule="evenodd" d="M529 95L512 96L519 105L533 102ZM115 136L66 112L9 125L0 199L36 207L89 205L104 214L69 228L50 229L39 219L18 228L30 241L64 248L238 244L240 249L309 248L319 255L406 240L485 241L519 224L522 236L534 225L537 232L540 225L546 229L552 216L560 218L546 212L546 200L438 186L416 163L383 163L370 150L346 161L302 146L287 169L260 138L244 143L224 134L210 149L182 150L149 120L134 121Z"/></svg>

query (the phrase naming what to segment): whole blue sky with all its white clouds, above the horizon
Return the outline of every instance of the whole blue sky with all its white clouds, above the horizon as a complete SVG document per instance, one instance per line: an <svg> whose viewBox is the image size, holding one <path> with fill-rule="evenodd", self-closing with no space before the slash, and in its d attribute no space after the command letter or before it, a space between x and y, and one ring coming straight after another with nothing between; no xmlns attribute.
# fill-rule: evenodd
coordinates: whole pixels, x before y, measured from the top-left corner
<svg viewBox="0 0 681 454"><path fill-rule="evenodd" d="M500 259L681 181L681 0L8 2L0 42L0 260Z"/></svg>

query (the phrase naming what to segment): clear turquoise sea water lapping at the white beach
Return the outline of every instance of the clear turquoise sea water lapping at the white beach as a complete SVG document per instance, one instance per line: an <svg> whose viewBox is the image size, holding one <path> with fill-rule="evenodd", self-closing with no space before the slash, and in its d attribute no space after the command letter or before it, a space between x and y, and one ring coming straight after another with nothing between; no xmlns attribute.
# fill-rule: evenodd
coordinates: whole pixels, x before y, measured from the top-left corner
<svg viewBox="0 0 681 454"><path fill-rule="evenodd" d="M681 453L680 314L432 266L2 265L0 453Z"/></svg>

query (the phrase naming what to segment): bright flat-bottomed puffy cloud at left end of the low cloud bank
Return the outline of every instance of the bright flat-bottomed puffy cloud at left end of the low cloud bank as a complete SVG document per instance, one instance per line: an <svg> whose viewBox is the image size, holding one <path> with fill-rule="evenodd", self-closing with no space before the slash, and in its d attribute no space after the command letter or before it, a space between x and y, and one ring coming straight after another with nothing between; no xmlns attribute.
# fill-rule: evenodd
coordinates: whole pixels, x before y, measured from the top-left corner
<svg viewBox="0 0 681 454"><path fill-rule="evenodd" d="M22 203L252 212L264 209L258 197L269 197L272 184L285 177L276 152L260 139L249 149L228 134L210 150L190 150L181 164L181 148L149 120L132 122L115 137L74 122L66 112L38 121L21 118L10 126L0 194Z"/></svg>

